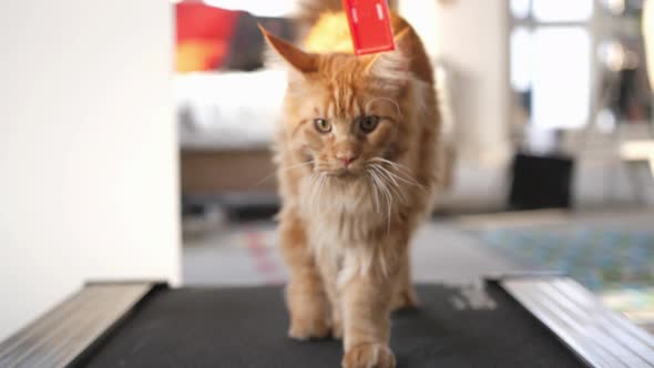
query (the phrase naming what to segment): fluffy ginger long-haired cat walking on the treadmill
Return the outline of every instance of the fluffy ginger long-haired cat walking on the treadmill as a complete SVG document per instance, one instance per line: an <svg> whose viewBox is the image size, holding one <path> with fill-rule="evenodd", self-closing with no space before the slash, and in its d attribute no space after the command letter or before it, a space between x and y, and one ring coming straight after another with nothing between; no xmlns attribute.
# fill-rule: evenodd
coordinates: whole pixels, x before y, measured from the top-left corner
<svg viewBox="0 0 654 368"><path fill-rule="evenodd" d="M276 136L289 336L343 338L343 367L395 367L390 311L416 305L409 242L432 209L440 119L420 39L356 57L340 1L307 6L304 51L262 31L289 69Z"/></svg>

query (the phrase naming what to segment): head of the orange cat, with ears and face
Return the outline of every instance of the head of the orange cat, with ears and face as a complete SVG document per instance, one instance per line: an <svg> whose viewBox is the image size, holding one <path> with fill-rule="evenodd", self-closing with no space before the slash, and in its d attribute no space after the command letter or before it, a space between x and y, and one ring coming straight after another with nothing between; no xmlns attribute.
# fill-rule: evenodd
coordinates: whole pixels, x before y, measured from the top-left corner
<svg viewBox="0 0 654 368"><path fill-rule="evenodd" d="M309 53L263 32L289 69L284 150L338 177L357 176L405 150L411 75L402 32L396 51L364 57Z"/></svg>

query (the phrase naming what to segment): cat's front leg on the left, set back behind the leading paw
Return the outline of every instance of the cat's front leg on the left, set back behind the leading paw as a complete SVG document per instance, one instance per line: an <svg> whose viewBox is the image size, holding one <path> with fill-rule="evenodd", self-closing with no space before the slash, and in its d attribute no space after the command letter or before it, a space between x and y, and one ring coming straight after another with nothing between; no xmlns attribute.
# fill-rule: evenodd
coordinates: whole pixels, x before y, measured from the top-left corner
<svg viewBox="0 0 654 368"><path fill-rule="evenodd" d="M307 242L306 229L292 213L282 217L282 254L289 268L286 305L290 317L288 336L299 340L327 337L330 307L323 278Z"/></svg>

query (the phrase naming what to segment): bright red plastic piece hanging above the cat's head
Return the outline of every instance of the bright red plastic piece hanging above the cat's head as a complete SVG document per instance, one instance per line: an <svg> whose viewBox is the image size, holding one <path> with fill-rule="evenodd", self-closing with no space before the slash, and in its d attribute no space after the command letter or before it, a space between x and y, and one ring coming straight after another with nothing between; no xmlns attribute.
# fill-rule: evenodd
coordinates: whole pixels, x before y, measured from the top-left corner
<svg viewBox="0 0 654 368"><path fill-rule="evenodd" d="M386 0L343 0L343 9L357 55L395 50Z"/></svg>

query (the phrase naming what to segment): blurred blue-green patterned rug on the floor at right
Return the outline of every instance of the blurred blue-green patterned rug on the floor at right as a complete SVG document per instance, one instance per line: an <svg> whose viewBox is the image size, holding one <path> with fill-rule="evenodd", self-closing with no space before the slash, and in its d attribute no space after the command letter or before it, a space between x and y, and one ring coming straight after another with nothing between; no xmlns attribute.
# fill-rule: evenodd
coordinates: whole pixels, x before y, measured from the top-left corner
<svg viewBox="0 0 654 368"><path fill-rule="evenodd" d="M562 272L647 328L654 325L654 231L486 229L481 239L523 265Z"/></svg>

